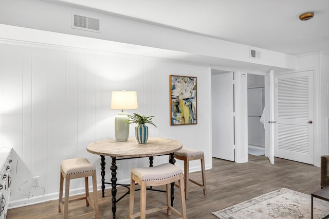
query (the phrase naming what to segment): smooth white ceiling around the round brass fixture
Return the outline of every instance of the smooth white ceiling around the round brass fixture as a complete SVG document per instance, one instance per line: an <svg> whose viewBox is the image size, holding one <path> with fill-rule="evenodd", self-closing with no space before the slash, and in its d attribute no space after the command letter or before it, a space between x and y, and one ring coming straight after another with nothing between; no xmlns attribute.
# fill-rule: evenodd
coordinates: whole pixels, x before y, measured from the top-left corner
<svg viewBox="0 0 329 219"><path fill-rule="evenodd" d="M287 54L329 51L329 0L48 1Z"/></svg>

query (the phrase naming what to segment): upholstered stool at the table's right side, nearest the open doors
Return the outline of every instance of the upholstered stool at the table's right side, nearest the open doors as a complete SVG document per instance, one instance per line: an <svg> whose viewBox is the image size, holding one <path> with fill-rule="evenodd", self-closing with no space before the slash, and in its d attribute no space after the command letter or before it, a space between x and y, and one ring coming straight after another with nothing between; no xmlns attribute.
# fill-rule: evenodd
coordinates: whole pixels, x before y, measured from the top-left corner
<svg viewBox="0 0 329 219"><path fill-rule="evenodd" d="M187 147L182 147L180 150L178 150L174 153L174 156L178 160L184 160L185 198L188 199L188 197L189 197L189 184L188 184L189 181L202 187L204 189L204 194L207 194L204 152L189 149ZM189 178L189 162L191 160L200 160L201 161L202 184Z"/></svg>

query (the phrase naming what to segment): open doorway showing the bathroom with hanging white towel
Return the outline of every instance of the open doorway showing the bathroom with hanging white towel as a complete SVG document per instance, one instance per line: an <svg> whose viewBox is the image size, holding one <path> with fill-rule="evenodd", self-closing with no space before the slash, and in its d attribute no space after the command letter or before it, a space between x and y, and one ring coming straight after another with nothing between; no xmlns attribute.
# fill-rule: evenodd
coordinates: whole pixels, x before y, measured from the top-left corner
<svg viewBox="0 0 329 219"><path fill-rule="evenodd" d="M265 78L248 74L248 154L265 155Z"/></svg>

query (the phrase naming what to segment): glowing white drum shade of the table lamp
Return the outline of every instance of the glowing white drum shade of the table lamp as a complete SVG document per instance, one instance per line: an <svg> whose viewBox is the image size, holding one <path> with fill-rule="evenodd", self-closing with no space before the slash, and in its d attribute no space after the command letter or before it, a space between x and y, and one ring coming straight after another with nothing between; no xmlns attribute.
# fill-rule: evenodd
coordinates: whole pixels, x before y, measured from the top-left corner
<svg viewBox="0 0 329 219"><path fill-rule="evenodd" d="M111 109L137 109L137 92L113 91Z"/></svg>

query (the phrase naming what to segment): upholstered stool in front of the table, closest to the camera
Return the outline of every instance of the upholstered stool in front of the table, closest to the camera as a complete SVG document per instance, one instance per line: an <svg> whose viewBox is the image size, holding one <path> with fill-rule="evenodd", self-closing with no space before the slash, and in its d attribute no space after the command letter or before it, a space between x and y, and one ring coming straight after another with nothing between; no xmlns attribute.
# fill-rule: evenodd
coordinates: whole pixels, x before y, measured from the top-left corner
<svg viewBox="0 0 329 219"><path fill-rule="evenodd" d="M180 213L170 205L170 183L178 181L180 194ZM130 182L130 199L129 199L129 219L140 216L145 218L146 214L158 212L167 209L167 215L171 215L171 210L180 218L186 218L186 207L184 198L184 175L182 170L171 163L165 163L149 168L134 168L132 169ZM135 198L135 182L140 185L140 212L133 214L134 198ZM146 191L148 186L166 185L167 205L146 210Z"/></svg>

